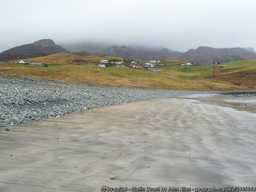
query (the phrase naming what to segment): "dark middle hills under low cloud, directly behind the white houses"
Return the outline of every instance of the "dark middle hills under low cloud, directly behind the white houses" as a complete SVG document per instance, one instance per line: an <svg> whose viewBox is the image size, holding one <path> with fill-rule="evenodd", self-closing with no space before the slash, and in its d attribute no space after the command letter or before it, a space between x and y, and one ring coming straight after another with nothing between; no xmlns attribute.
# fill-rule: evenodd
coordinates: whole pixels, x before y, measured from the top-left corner
<svg viewBox="0 0 256 192"><path fill-rule="evenodd" d="M165 60L170 56L175 56L182 54L180 52L170 52L167 48L164 48L158 52L154 51L144 51L144 50L134 50L126 46L111 46L107 49L96 51L95 54L104 54L108 56L119 56L123 58L129 58L140 61L149 61L149 60Z"/></svg>

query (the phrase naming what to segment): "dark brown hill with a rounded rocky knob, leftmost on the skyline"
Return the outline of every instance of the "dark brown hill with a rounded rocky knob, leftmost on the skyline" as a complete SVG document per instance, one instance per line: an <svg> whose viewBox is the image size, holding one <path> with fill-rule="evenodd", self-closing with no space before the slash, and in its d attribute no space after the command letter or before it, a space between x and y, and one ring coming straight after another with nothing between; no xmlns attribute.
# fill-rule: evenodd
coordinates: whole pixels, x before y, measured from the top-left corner
<svg viewBox="0 0 256 192"><path fill-rule="evenodd" d="M70 53L65 48L56 45L51 39L42 39L31 44L17 46L2 52L1 54L27 53L34 54L38 52L50 53Z"/></svg>

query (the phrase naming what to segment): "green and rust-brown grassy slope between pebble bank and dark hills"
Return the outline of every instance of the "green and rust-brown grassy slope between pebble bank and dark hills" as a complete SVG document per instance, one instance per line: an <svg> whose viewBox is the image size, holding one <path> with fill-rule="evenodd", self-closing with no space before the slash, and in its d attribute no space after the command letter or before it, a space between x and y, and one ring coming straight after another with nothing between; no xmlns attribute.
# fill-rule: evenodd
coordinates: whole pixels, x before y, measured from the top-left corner
<svg viewBox="0 0 256 192"><path fill-rule="evenodd" d="M74 65L74 59L83 59L88 63ZM102 55L78 56L75 54L59 53L30 60L44 63L54 63L46 68L42 65L8 64L0 62L0 71L13 74L39 76L57 80L75 80L100 82L116 85L149 86L174 89L246 89L254 88L250 83L238 84L232 82L232 77L221 78L225 73L256 70L256 60L233 62L214 66L178 66L179 61L166 60L164 66L156 66L160 73L149 70L138 70L128 67L100 68L97 62ZM120 57L108 56L110 59L123 60ZM236 70L238 68L238 70ZM220 74L220 75L218 75ZM234 73L238 74L238 73ZM244 75L243 75L244 76ZM249 76L248 76L249 77ZM252 82L256 80L251 79ZM239 86L240 85L240 86Z"/></svg>

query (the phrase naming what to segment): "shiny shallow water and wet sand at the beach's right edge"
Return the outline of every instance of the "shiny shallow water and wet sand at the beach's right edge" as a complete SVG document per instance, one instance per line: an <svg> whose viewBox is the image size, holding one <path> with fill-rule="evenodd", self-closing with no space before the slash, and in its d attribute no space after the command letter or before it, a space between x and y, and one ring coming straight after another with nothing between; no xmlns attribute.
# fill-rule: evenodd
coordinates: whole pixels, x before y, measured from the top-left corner
<svg viewBox="0 0 256 192"><path fill-rule="evenodd" d="M192 94L182 98L196 99L211 105L231 107L240 111L256 113L256 98L240 98L221 94Z"/></svg>

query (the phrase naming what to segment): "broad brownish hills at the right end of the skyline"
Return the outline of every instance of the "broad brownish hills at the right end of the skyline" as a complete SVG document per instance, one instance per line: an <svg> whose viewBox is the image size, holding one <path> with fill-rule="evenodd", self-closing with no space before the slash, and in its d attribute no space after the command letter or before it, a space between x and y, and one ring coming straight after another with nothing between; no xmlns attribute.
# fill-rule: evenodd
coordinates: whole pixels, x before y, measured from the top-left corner
<svg viewBox="0 0 256 192"><path fill-rule="evenodd" d="M212 62L227 63L244 59L256 59L256 54L244 48L212 48L200 46L190 49L184 54L171 56L169 59L182 62L193 62L194 64L209 65Z"/></svg>

